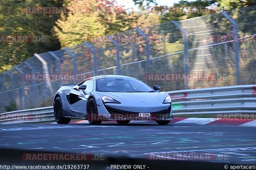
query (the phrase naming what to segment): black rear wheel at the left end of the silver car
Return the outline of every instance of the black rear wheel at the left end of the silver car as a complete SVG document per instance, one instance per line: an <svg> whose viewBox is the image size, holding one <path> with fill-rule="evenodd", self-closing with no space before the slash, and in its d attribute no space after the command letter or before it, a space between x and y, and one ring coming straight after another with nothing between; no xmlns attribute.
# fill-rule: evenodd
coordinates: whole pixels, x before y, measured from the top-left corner
<svg viewBox="0 0 256 170"><path fill-rule="evenodd" d="M53 110L55 121L58 124L68 124L70 122L71 118L62 116L62 102L60 97L57 97L55 99Z"/></svg>

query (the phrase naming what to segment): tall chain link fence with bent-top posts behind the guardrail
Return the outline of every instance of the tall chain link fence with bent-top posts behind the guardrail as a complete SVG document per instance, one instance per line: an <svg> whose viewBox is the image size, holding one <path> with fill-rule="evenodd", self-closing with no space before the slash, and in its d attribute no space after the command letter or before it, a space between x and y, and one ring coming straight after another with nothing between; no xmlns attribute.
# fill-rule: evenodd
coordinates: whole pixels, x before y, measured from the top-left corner
<svg viewBox="0 0 256 170"><path fill-rule="evenodd" d="M255 84L256 7L132 30L34 54L0 74L1 112L51 106L61 84L136 77L163 91Z"/></svg>

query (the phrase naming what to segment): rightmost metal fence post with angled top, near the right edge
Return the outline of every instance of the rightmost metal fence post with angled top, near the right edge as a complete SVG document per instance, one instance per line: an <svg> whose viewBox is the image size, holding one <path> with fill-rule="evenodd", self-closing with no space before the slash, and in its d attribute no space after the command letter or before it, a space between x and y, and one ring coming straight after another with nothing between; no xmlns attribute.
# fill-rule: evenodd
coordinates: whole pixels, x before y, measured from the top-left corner
<svg viewBox="0 0 256 170"><path fill-rule="evenodd" d="M222 11L221 14L228 19L228 21L234 26L234 44L235 44L235 65L236 65L236 85L240 85L240 69L239 69L239 44L238 44L238 26L236 21L231 18L225 11Z"/></svg>

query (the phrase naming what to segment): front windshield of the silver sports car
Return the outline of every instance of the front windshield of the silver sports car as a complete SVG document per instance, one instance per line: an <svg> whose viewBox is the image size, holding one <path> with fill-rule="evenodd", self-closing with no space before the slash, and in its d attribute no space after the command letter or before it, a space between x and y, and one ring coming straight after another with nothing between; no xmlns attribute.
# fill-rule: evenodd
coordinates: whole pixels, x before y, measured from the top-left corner
<svg viewBox="0 0 256 170"><path fill-rule="evenodd" d="M104 78L96 80L96 91L101 92L153 92L144 82L132 78Z"/></svg>

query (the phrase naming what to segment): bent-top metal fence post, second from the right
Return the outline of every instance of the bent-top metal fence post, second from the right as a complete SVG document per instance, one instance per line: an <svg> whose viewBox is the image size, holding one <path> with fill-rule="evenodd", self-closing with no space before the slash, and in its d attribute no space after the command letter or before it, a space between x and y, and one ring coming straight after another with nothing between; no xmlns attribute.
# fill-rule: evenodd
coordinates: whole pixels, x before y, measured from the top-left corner
<svg viewBox="0 0 256 170"><path fill-rule="evenodd" d="M188 75L188 38L186 31L180 26L180 24L177 21L172 21L172 23L179 28L180 32L182 32L183 37L183 44L184 44L184 56L183 56L183 64L184 64L184 74ZM188 89L188 80L184 80L185 83L185 89Z"/></svg>

